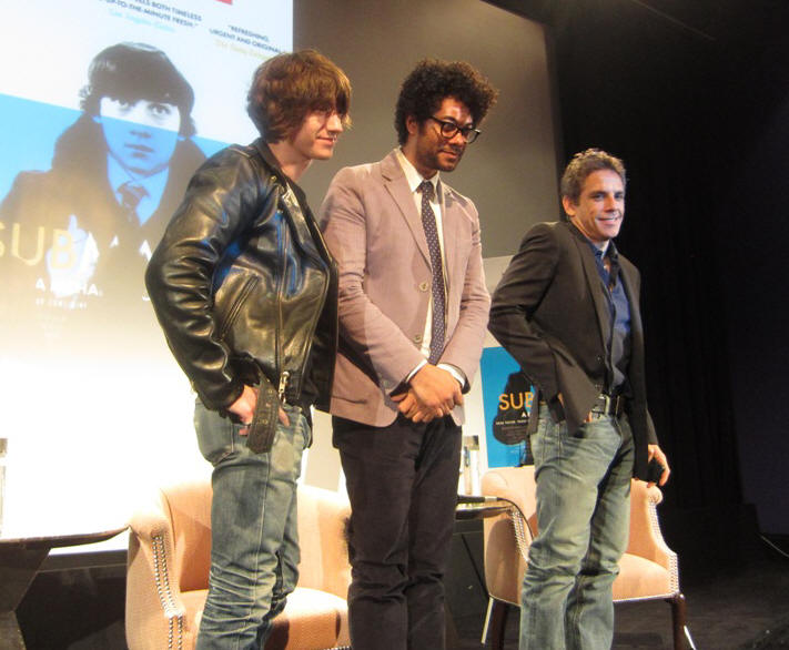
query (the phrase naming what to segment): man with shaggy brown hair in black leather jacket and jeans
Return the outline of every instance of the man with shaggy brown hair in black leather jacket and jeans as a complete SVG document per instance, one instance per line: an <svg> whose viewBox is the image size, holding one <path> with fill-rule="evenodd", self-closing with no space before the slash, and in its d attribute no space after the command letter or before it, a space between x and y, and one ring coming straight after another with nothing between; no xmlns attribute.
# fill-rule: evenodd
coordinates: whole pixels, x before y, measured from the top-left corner
<svg viewBox="0 0 789 650"><path fill-rule="evenodd" d="M262 648L296 585L296 479L337 332L336 270L296 183L334 153L350 101L317 52L263 63L247 99L261 138L198 170L145 275L214 466L202 650Z"/></svg>

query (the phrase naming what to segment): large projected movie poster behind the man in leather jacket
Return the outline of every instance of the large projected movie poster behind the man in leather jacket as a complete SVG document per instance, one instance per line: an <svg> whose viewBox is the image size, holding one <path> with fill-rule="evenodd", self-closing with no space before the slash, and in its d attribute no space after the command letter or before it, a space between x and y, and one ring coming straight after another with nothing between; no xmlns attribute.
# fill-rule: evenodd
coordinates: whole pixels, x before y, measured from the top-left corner
<svg viewBox="0 0 789 650"><path fill-rule="evenodd" d="M257 136L252 72L292 49L292 24L290 0L0 9L7 521L59 495L117 510L201 460L143 273L198 166Z"/></svg>

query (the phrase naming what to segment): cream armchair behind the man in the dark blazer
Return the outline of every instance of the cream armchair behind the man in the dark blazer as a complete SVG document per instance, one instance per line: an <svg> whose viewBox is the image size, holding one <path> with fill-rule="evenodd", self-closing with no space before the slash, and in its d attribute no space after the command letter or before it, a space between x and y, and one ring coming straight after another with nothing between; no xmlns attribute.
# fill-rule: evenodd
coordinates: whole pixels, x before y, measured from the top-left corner
<svg viewBox="0 0 789 650"><path fill-rule="evenodd" d="M520 606L520 585L528 547L537 534L534 467L504 467L483 476L482 492L512 504L485 519L485 582L490 597L483 642L488 628L492 648L504 648L507 606ZM630 540L614 581L614 601L666 600L671 606L674 647L685 648L685 597L679 590L677 555L666 546L657 518L662 494L634 480L630 497Z"/></svg>

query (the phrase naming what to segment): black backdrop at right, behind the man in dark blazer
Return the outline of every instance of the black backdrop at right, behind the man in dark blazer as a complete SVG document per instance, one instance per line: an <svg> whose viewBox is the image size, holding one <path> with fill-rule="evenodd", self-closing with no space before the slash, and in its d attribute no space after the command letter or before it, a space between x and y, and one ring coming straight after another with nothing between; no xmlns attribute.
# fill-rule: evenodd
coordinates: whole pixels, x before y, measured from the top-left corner
<svg viewBox="0 0 789 650"><path fill-rule="evenodd" d="M789 532L789 27L780 0L503 0L550 28L564 161L628 167L668 508L757 506Z"/></svg>

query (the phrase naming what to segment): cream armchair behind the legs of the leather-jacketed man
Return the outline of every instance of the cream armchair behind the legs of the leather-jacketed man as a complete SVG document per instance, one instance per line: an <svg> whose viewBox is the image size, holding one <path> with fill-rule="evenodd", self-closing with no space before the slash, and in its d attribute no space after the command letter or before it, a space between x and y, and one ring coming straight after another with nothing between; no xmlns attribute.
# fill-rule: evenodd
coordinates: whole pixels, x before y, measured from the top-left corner
<svg viewBox="0 0 789 650"><path fill-rule="evenodd" d="M351 643L345 601L351 579L345 546L347 499L299 488L299 586L275 619L267 650L322 650ZM211 484L160 490L134 515L127 570L130 650L194 648L211 556Z"/></svg>

